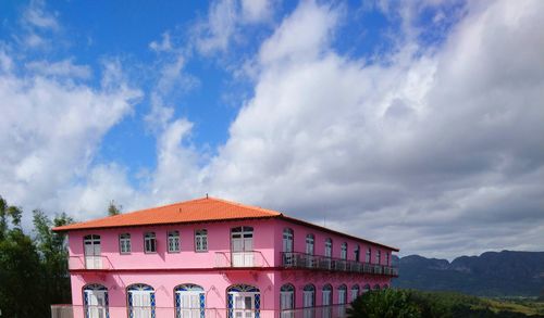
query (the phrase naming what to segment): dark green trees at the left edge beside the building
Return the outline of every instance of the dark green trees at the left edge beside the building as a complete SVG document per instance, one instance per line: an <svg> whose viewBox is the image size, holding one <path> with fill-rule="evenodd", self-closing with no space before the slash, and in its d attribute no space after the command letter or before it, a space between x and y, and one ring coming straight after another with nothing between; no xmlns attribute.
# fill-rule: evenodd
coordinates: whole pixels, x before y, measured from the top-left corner
<svg viewBox="0 0 544 318"><path fill-rule="evenodd" d="M67 252L53 226L73 222L65 214L53 220L34 211L34 236L23 231L23 211L0 196L0 309L2 317L51 317L50 304L70 303ZM24 303L22 303L24 302Z"/></svg>

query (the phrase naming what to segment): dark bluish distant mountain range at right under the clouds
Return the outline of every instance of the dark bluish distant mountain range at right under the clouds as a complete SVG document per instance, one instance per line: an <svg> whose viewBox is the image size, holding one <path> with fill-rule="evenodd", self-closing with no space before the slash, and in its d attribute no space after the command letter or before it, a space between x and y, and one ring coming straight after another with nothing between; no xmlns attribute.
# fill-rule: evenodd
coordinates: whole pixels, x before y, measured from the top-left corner
<svg viewBox="0 0 544 318"><path fill-rule="evenodd" d="M544 295L544 252L485 252L446 259L410 255L394 259L393 285L425 291L458 291L478 296Z"/></svg>

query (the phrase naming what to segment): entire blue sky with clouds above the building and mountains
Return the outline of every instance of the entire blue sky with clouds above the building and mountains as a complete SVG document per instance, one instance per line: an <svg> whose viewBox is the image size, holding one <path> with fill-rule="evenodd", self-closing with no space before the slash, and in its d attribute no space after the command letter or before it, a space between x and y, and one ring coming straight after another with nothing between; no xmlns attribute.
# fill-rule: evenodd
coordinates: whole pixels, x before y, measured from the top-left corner
<svg viewBox="0 0 544 318"><path fill-rule="evenodd" d="M0 195L544 249L544 1L1 1Z"/></svg>

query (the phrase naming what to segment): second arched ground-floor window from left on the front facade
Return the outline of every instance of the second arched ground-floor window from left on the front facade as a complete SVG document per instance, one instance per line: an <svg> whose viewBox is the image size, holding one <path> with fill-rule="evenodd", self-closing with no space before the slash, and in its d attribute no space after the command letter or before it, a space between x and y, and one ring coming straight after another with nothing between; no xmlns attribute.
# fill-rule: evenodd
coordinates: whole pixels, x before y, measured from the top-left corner
<svg viewBox="0 0 544 318"><path fill-rule="evenodd" d="M154 318L154 290L138 283L126 289L129 318Z"/></svg>

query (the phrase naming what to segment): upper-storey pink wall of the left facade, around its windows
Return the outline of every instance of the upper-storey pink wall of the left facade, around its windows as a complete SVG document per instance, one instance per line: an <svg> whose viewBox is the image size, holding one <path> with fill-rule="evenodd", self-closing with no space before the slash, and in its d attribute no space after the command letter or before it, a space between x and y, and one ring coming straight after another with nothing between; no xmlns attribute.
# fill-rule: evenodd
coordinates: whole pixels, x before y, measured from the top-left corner
<svg viewBox="0 0 544 318"><path fill-rule="evenodd" d="M69 234L69 252L72 260L81 257L83 262L83 238L99 234L102 256L109 259L115 269L157 269L157 268L212 268L215 265L215 252L231 250L231 228L254 227L254 250L260 251L263 258L275 266L273 224L267 220L225 221L175 226L149 226L115 228L102 230L81 230ZM208 252L195 252L195 231L208 230ZM168 253L166 232L180 231L181 252ZM144 233L157 236L157 253L144 253ZM120 254L119 234L131 233L131 254Z"/></svg>

